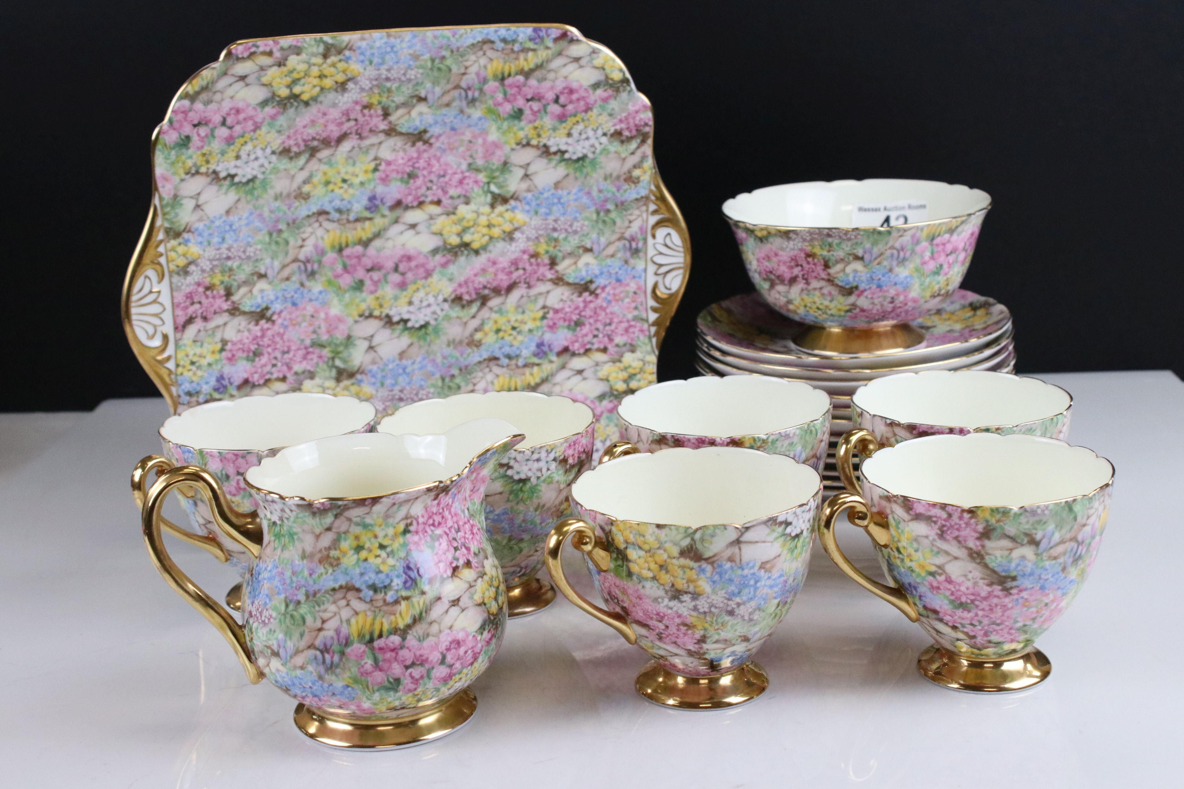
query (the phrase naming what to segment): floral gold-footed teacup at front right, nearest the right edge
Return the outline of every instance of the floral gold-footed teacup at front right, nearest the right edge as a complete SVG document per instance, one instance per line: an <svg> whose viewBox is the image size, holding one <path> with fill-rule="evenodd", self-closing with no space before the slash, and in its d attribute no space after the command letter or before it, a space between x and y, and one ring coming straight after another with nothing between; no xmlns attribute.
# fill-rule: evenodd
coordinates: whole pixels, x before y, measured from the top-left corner
<svg viewBox="0 0 1184 789"><path fill-rule="evenodd" d="M1114 467L1085 447L1035 435L931 435L877 447L867 431L839 440L851 476L863 460L862 496L823 505L823 549L861 587L899 608L937 642L918 666L963 691L1018 691L1051 666L1035 642L1086 580L1109 509ZM848 519L871 537L895 582L873 581L835 542Z"/></svg>

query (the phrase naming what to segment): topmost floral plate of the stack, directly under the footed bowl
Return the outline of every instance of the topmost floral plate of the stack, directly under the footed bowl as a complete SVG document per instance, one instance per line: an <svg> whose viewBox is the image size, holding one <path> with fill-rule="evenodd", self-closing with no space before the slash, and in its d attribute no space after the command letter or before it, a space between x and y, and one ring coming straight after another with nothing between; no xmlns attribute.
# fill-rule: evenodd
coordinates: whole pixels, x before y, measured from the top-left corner
<svg viewBox="0 0 1184 789"><path fill-rule="evenodd" d="M934 313L914 321L925 342L894 354L815 356L793 344L806 326L768 306L755 292L733 296L699 313L699 331L714 345L754 362L800 368L880 369L965 356L996 341L1011 326L1008 308L969 290L955 291Z"/></svg>

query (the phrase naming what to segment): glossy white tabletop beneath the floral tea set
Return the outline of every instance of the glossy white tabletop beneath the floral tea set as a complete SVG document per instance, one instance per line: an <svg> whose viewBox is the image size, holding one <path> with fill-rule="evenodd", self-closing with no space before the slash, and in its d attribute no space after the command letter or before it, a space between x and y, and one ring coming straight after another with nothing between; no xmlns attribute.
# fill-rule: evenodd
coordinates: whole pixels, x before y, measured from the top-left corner
<svg viewBox="0 0 1184 789"><path fill-rule="evenodd" d="M0 415L0 784L1178 785L1184 384L1167 371L1041 377L1073 393L1073 442L1113 460L1118 479L1093 574L1040 641L1053 674L1036 688L929 685L915 668L928 638L816 543L805 588L757 655L770 688L749 705L644 701L633 677L645 654L560 599L510 622L472 686L469 725L379 754L305 739L295 703L249 685L153 569L128 476L159 451L163 401ZM874 571L870 543L847 532L849 556ZM236 581L198 549L172 551L215 596Z"/></svg>

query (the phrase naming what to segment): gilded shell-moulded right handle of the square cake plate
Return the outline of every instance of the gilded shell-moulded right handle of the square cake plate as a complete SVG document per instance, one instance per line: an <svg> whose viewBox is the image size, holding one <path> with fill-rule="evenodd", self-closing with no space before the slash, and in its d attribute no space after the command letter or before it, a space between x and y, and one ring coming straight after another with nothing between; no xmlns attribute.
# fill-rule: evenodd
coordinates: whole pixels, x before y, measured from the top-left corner
<svg viewBox="0 0 1184 789"><path fill-rule="evenodd" d="M649 298L654 300L650 311L654 318L654 349L662 345L674 311L678 309L682 292L687 289L690 276L690 233L682 212L662 182L662 176L654 170L650 187L650 232L645 245L646 267L654 272L654 284Z"/></svg>

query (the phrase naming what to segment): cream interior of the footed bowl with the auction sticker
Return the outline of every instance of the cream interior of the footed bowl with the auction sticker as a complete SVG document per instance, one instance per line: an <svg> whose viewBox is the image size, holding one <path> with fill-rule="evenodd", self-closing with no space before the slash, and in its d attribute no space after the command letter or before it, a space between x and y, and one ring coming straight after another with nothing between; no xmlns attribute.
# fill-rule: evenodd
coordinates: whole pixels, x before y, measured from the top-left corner
<svg viewBox="0 0 1184 789"><path fill-rule="evenodd" d="M922 201L925 221L972 214L991 205L991 195L958 183L868 179L781 183L745 192L723 203L725 215L749 225L778 227L854 227L855 206Z"/></svg>

